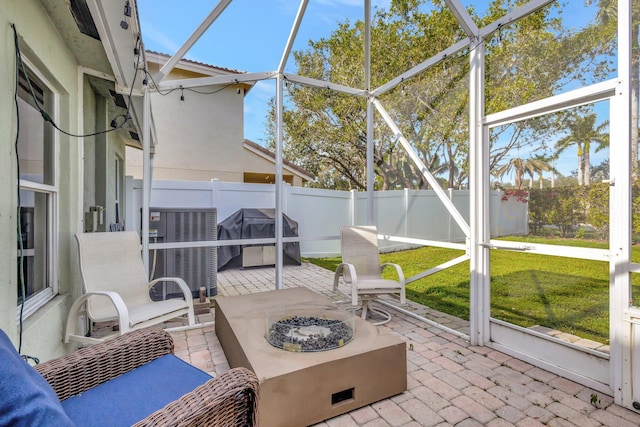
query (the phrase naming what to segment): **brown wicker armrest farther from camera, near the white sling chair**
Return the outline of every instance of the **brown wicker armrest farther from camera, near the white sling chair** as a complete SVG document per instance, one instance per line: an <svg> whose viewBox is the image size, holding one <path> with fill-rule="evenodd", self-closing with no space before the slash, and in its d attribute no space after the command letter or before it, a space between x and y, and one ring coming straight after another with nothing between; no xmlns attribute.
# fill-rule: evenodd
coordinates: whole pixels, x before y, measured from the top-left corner
<svg viewBox="0 0 640 427"><path fill-rule="evenodd" d="M173 339L162 329L145 328L120 335L35 366L60 400L82 393L165 354Z"/></svg>

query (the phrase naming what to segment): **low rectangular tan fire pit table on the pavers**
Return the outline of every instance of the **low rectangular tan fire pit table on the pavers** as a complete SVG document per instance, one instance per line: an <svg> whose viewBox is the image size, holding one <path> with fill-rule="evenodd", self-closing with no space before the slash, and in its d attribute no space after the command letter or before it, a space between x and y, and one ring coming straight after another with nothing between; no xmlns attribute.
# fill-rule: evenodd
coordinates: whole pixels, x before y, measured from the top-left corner
<svg viewBox="0 0 640 427"><path fill-rule="evenodd" d="M261 427L314 424L407 389L405 342L358 316L354 338L333 350L291 352L267 342L268 311L319 304L332 301L304 287L216 299L216 334L229 365L260 380Z"/></svg>

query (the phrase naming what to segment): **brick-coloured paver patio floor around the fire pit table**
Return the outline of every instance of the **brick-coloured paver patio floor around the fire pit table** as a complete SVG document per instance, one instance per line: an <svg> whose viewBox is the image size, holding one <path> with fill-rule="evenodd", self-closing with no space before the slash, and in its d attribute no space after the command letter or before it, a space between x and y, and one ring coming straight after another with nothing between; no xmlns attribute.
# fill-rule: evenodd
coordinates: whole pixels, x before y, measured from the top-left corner
<svg viewBox="0 0 640 427"><path fill-rule="evenodd" d="M273 268L218 273L218 297L274 289ZM283 287L308 286L339 299L333 272L303 263L286 266ZM428 308L411 304L419 314ZM316 427L349 426L640 426L640 414L613 398L488 347L391 310L379 328L407 342L408 390L400 395L331 418ZM212 314L200 321L213 320ZM449 328L468 333L468 324L446 318ZM214 326L171 333L176 355L211 373L229 369ZM592 401L595 399L595 402Z"/></svg>

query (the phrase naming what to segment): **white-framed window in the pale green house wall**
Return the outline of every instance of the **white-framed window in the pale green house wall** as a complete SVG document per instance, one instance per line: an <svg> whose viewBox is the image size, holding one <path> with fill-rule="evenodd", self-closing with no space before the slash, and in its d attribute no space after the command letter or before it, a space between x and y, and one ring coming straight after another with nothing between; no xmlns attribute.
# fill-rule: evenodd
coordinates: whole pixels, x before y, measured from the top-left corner
<svg viewBox="0 0 640 427"><path fill-rule="evenodd" d="M54 94L34 70L18 80L18 314L28 317L57 293L56 138L40 109L54 117ZM54 118L55 120L55 118ZM23 305L24 302L24 305Z"/></svg>

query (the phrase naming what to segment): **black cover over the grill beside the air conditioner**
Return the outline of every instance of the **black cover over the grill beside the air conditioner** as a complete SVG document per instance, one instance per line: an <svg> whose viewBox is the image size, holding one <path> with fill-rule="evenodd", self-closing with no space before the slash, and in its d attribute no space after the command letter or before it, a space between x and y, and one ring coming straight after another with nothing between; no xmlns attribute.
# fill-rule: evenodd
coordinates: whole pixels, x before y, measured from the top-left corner
<svg viewBox="0 0 640 427"><path fill-rule="evenodd" d="M298 223L287 215L282 215L284 237L298 236ZM218 224L218 240L259 239L275 237L275 209L239 209ZM242 249L250 246L273 245L237 245L218 248L218 271L242 266ZM284 264L300 265L300 245L298 242L283 243Z"/></svg>

